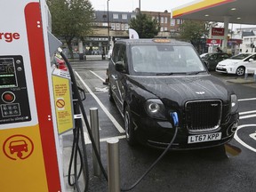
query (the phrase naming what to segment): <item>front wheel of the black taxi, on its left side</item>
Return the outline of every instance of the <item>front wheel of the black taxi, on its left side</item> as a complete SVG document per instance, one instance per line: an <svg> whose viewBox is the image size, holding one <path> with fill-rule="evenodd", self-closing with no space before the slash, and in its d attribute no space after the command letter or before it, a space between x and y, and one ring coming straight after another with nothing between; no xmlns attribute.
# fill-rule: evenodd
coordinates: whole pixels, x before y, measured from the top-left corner
<svg viewBox="0 0 256 192"><path fill-rule="evenodd" d="M132 123L131 119L131 111L129 106L126 106L124 109L124 127L125 127L125 135L126 140L130 146L135 146L137 143L137 140L135 138L135 132L134 132L134 124Z"/></svg>

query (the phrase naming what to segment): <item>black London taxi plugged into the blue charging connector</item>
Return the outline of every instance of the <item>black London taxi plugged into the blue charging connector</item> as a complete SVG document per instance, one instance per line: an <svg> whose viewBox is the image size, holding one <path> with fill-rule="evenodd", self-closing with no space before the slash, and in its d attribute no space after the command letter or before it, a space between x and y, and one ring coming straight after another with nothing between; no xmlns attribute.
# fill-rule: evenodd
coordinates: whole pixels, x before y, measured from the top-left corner
<svg viewBox="0 0 256 192"><path fill-rule="evenodd" d="M124 117L128 144L166 148L176 128L172 149L211 148L234 137L236 94L209 74L192 44L118 40L108 73L109 100Z"/></svg>

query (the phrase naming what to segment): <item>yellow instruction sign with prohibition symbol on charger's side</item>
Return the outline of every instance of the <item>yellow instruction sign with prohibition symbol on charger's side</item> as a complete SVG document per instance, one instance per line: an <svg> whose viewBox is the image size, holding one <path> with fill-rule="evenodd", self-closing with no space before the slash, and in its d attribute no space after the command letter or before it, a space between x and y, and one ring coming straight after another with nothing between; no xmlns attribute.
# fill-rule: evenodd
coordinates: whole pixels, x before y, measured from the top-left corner
<svg viewBox="0 0 256 192"><path fill-rule="evenodd" d="M74 128L70 79L66 71L55 68L52 74L55 111L59 134Z"/></svg>

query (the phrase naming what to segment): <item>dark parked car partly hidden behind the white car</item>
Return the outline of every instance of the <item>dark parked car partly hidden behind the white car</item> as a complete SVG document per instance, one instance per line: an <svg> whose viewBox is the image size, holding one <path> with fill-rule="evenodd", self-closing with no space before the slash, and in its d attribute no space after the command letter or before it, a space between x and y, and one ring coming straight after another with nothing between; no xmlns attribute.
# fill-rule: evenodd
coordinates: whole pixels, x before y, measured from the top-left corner
<svg viewBox="0 0 256 192"><path fill-rule="evenodd" d="M221 60L227 60L232 55L226 52L215 52L215 53L207 53L204 56L200 56L201 59L204 61L208 70L215 70L217 64Z"/></svg>

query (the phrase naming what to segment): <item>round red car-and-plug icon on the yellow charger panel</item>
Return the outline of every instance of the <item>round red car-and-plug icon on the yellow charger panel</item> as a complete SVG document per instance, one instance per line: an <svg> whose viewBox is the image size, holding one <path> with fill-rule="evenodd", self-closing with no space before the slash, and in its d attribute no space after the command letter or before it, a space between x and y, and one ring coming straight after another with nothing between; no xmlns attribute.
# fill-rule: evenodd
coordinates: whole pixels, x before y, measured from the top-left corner
<svg viewBox="0 0 256 192"><path fill-rule="evenodd" d="M12 160L26 159L34 150L34 144L25 135L12 135L4 141L4 154Z"/></svg>

